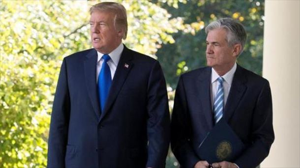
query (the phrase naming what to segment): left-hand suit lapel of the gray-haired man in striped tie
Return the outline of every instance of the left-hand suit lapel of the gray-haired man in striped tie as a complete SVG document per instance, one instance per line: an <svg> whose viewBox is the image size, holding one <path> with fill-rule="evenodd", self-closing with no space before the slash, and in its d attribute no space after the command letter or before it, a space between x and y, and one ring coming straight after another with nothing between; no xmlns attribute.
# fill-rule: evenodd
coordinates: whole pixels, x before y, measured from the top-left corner
<svg viewBox="0 0 300 168"><path fill-rule="evenodd" d="M201 105L203 107L203 112L209 129L213 127L213 118L211 111L211 101L210 101L210 81L211 81L211 68L207 67L198 76L198 82L196 89L198 90L198 95L200 98Z"/></svg>

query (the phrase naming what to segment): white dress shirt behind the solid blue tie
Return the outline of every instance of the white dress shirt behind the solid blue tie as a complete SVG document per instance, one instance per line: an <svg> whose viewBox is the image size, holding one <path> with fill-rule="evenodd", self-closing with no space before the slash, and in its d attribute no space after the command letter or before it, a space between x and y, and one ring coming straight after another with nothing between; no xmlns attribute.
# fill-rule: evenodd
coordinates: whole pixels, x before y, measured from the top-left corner
<svg viewBox="0 0 300 168"><path fill-rule="evenodd" d="M110 60L107 61L107 64L109 66L109 69L111 70L111 75L112 75L112 80L114 79L115 76L115 72L122 54L122 51L124 49L124 45L123 43L120 43L120 45L111 53L109 53L108 55L111 57ZM96 82L98 84L98 76L102 67L102 63L103 63L103 58L102 56L104 54L100 53L97 51L97 55L98 55L98 59L97 59L97 70L96 70Z"/></svg>

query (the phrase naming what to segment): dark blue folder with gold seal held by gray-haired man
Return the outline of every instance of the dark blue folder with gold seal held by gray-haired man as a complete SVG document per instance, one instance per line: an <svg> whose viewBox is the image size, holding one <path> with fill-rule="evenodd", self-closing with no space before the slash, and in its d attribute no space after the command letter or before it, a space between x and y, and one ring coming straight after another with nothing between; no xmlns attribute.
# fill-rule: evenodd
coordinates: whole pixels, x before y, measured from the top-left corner
<svg viewBox="0 0 300 168"><path fill-rule="evenodd" d="M197 154L201 160L212 164L221 161L234 162L243 150L243 142L225 119L221 118L200 143Z"/></svg>

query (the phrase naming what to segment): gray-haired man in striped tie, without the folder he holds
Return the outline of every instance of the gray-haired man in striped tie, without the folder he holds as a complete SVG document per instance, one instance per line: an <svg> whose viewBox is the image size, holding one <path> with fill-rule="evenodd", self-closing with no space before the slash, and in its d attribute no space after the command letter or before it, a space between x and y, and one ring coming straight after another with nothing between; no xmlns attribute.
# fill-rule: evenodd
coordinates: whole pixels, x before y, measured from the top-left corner
<svg viewBox="0 0 300 168"><path fill-rule="evenodd" d="M171 121L171 147L183 168L208 168L197 155L199 144L220 118L245 144L233 162L213 168L254 168L269 154L274 140L269 82L236 63L246 32L236 21L210 23L207 35L208 67L180 76Z"/></svg>

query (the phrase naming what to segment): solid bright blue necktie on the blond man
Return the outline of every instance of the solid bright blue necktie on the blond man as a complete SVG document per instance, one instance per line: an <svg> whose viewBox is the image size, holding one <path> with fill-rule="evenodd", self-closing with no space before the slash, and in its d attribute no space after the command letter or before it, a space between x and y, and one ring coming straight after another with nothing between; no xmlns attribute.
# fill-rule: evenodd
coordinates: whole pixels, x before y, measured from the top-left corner
<svg viewBox="0 0 300 168"><path fill-rule="evenodd" d="M104 59L102 67L98 76L98 92L99 92L99 101L100 109L103 112L105 102L109 93L109 88L112 83L112 76L107 61L110 60L110 56L105 54L102 56Z"/></svg>

